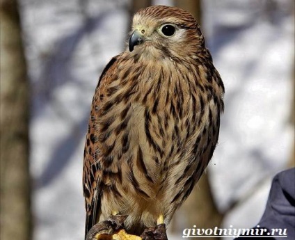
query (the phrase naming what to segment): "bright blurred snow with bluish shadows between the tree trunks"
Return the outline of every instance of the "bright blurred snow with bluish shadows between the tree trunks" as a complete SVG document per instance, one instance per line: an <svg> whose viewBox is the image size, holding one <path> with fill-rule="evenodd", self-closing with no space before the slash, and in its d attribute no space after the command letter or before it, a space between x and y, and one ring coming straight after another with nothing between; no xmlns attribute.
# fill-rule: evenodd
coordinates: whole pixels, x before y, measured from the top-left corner
<svg viewBox="0 0 295 240"><path fill-rule="evenodd" d="M34 239L83 239L90 102L104 65L125 48L129 1L20 3L32 88ZM154 1L159 3L172 4ZM271 178L291 157L293 9L292 0L202 2L202 30L226 93L210 180L223 211L247 196L227 214L224 227L256 225Z"/></svg>

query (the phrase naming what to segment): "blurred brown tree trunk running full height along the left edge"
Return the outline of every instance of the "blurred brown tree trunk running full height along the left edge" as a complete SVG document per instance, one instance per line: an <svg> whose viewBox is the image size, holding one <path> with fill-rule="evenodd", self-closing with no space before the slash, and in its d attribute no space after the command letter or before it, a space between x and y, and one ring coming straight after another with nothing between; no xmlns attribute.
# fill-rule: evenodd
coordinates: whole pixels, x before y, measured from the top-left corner
<svg viewBox="0 0 295 240"><path fill-rule="evenodd" d="M29 83L17 1L1 0L0 239L31 239Z"/></svg>

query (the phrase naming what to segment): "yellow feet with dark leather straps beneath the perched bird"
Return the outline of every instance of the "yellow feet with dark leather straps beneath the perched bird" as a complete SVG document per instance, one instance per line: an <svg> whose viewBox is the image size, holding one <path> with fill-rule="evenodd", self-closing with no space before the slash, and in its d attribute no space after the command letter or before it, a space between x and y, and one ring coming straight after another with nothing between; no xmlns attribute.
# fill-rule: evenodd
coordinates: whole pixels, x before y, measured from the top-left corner
<svg viewBox="0 0 295 240"><path fill-rule="evenodd" d="M86 236L86 240L168 240L166 225L145 229L141 236L127 234L124 221L127 216L110 216L108 220L95 224Z"/></svg>

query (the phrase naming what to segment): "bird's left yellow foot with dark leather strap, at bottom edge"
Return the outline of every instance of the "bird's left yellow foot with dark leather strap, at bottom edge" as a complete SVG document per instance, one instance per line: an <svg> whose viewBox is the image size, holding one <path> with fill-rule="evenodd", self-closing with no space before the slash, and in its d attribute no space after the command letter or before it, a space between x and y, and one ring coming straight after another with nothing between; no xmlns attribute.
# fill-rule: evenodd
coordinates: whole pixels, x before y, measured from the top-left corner
<svg viewBox="0 0 295 240"><path fill-rule="evenodd" d="M124 228L125 215L110 216L106 221L95 224L87 234L86 240L141 240L127 234Z"/></svg>

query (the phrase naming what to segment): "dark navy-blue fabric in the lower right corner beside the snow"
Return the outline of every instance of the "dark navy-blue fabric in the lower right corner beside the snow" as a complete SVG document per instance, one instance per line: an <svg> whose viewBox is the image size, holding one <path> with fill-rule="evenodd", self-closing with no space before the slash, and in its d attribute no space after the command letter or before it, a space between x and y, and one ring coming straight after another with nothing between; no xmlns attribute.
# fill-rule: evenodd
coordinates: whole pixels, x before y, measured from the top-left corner
<svg viewBox="0 0 295 240"><path fill-rule="evenodd" d="M257 225L259 228L266 228L270 234L273 229L287 230L287 238L270 237L267 239L295 240L295 168L278 173L273 178L266 209ZM278 235L279 232L274 232L274 234ZM238 237L237 239L247 238Z"/></svg>

